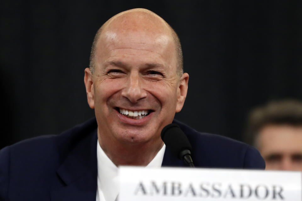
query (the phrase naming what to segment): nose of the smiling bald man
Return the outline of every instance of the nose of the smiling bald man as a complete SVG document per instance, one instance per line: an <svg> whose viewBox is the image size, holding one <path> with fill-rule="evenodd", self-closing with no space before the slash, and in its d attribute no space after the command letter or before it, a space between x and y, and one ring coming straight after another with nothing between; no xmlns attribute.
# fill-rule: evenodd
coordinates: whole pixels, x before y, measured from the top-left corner
<svg viewBox="0 0 302 201"><path fill-rule="evenodd" d="M147 97L147 92L143 89L143 80L141 80L139 74L130 74L126 82L126 87L122 90L122 96L132 103Z"/></svg>

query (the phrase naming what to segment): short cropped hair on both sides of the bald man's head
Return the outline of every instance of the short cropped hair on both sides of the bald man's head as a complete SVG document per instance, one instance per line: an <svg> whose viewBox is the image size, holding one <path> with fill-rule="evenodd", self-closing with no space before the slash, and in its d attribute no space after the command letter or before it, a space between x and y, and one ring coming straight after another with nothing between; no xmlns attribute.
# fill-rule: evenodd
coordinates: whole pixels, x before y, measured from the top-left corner
<svg viewBox="0 0 302 201"><path fill-rule="evenodd" d="M168 24L169 25L169 24ZM176 32L172 29L172 27L169 25L169 27L171 28L171 32L172 32L172 36L173 36L173 40L176 46L176 56L177 56L177 66L176 66L176 70L177 70L177 75L179 77L182 76L183 74L183 57L182 57L182 46L179 40L178 35L176 34ZM92 42L92 46L91 46L91 52L90 52L90 59L89 59L89 68L90 68L90 72L94 73L95 71L95 52L96 52L96 46L98 43L98 39L102 33L103 30L103 26L97 31L96 35L94 36L93 42Z"/></svg>

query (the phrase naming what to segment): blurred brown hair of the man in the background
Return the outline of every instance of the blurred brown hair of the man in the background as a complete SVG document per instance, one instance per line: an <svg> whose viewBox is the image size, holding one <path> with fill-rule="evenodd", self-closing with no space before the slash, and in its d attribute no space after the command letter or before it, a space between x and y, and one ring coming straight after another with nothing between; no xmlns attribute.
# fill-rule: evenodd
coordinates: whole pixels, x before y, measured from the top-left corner
<svg viewBox="0 0 302 201"><path fill-rule="evenodd" d="M302 126L302 102L290 99L278 100L251 110L247 120L245 142L257 146L258 133L271 124Z"/></svg>

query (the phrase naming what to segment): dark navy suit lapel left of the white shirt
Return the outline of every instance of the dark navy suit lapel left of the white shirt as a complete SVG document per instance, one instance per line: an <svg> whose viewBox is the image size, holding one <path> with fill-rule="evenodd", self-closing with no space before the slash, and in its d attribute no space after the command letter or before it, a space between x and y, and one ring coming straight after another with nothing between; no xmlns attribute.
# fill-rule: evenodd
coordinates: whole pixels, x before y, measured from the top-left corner
<svg viewBox="0 0 302 201"><path fill-rule="evenodd" d="M88 134L88 133L87 133ZM94 200L97 192L97 131L79 140L57 170L63 187L51 192L51 200Z"/></svg>

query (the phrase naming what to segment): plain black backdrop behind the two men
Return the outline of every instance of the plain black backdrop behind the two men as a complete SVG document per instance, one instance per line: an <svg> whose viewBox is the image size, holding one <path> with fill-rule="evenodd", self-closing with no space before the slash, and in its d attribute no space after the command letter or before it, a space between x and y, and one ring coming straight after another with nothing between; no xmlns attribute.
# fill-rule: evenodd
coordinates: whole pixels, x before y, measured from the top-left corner
<svg viewBox="0 0 302 201"><path fill-rule="evenodd" d="M3 0L0 148L94 116L83 82L93 37L131 8L178 33L190 79L176 118L197 130L242 140L251 108L302 99L302 1Z"/></svg>

